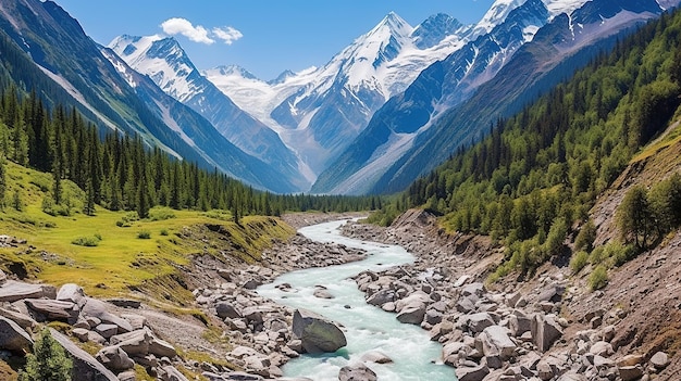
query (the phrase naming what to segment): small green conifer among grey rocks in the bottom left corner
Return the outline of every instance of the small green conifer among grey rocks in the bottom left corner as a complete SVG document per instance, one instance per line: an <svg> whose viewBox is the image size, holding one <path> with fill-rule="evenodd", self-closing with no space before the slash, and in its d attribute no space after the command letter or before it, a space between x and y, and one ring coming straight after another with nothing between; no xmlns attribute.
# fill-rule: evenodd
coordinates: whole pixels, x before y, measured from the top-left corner
<svg viewBox="0 0 681 381"><path fill-rule="evenodd" d="M73 360L45 328L26 356L26 367L18 373L20 381L70 381Z"/></svg>

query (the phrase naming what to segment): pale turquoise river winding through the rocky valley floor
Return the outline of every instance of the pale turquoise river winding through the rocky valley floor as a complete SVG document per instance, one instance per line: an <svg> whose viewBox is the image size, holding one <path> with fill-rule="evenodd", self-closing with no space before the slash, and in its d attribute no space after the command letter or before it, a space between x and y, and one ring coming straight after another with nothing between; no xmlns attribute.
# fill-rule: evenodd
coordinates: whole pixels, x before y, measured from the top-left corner
<svg viewBox="0 0 681 381"><path fill-rule="evenodd" d="M305 227L301 234L318 242L332 242L367 251L363 261L339 266L311 268L285 274L258 289L262 296L294 308L306 308L339 323L348 345L333 354L302 355L284 368L287 378L337 380L342 367L361 363L362 355L380 351L393 364L368 363L379 380L456 380L454 368L441 360L442 346L430 341L418 326L400 323L395 314L364 302L364 295L350 277L363 270L381 271L393 266L413 263L414 257L401 246L360 241L343 237L338 228L346 220ZM282 291L282 283L292 290ZM326 288L333 299L313 296L315 288Z"/></svg>

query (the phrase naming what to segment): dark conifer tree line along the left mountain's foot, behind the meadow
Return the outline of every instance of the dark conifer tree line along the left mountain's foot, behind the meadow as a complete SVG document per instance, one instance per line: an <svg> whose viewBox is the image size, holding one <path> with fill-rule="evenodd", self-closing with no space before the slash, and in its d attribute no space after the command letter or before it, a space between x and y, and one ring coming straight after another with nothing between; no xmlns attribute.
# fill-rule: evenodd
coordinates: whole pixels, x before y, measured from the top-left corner
<svg viewBox="0 0 681 381"><path fill-rule="evenodd" d="M36 91L10 85L0 96L0 152L20 165L51 173L50 198L42 208L69 213L63 180L85 191L83 212L96 206L136 211L140 218L157 205L175 209L225 209L235 220L246 215L278 216L284 212L368 211L382 206L379 196L274 194L253 189L227 175L178 160L140 137L102 134L75 107L48 110ZM0 154L0 156L2 156ZM1 164L0 164L1 166ZM4 169L0 167L0 174ZM1 181L0 191L7 189ZM5 200L5 194L0 194Z"/></svg>

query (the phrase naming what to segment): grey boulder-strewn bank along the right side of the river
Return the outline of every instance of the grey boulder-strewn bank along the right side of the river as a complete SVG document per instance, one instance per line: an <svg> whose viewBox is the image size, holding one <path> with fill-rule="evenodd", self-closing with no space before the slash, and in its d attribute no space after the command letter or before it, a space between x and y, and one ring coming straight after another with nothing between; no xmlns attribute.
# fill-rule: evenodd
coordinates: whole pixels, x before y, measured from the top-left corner
<svg viewBox="0 0 681 381"><path fill-rule="evenodd" d="M388 229L351 224L344 232L400 244L418 255L412 266L359 275L358 287L368 303L394 312L405 323L420 325L443 343L443 359L456 367L460 381L679 376L668 371L667 353L626 346L620 329L629 327L624 319L631 309L603 300L600 305L585 303L604 293L586 294L565 267L548 265L531 281L487 289L483 280L500 253L480 237L444 234L422 211L407 213Z"/></svg>

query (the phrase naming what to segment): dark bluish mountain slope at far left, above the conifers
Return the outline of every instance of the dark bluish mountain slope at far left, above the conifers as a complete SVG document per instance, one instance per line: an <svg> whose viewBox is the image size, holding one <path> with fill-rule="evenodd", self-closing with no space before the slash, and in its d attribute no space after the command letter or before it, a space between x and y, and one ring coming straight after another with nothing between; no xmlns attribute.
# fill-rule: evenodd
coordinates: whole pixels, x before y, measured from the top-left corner
<svg viewBox="0 0 681 381"><path fill-rule="evenodd" d="M71 99L66 106L85 110L92 122L102 129L117 129L138 135L147 144L184 160L197 162L201 167L218 166L232 176L259 188L273 186L280 191L290 191L287 185L278 186L264 175L250 172L260 165L252 157L235 153L231 160L210 157L198 152L183 140L177 131L150 111L114 66L100 53L99 47L85 35L77 21L54 2L20 0L0 4L0 28L18 49L33 59L36 67L61 86ZM22 84L26 73L12 72L16 84ZM29 90L29 89L27 89ZM42 89L35 89L38 93ZM53 100L52 100L53 101ZM230 148L226 148L230 150Z"/></svg>

